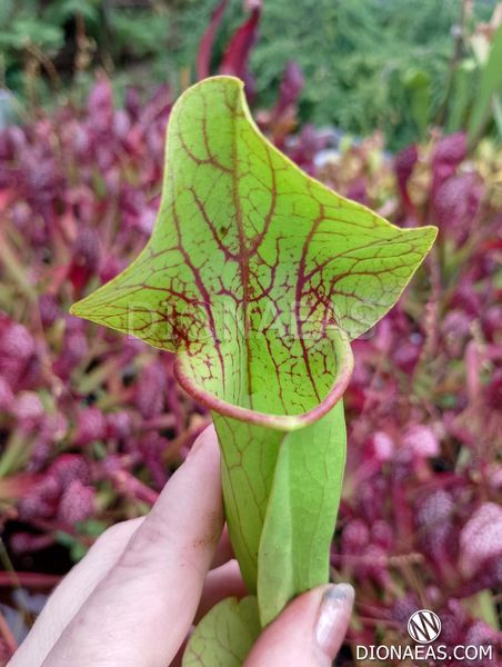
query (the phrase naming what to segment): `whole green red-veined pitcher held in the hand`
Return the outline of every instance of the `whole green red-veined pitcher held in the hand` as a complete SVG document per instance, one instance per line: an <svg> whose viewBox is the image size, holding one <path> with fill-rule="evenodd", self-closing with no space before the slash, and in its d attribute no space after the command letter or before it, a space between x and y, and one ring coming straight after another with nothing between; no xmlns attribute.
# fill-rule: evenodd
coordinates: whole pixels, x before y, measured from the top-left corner
<svg viewBox="0 0 502 667"><path fill-rule="evenodd" d="M209 613L184 664L224 667L328 581L350 340L395 303L435 229L399 229L303 173L260 135L235 78L179 99L165 161L149 243L72 312L177 352L179 382L212 412L250 597Z"/></svg>

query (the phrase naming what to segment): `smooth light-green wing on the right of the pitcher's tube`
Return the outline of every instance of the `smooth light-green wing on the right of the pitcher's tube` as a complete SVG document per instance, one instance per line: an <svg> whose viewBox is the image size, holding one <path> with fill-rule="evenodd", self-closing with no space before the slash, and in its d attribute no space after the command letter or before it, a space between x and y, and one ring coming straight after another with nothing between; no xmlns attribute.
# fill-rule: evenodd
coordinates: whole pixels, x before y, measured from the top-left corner
<svg viewBox="0 0 502 667"><path fill-rule="evenodd" d="M261 535L260 619L268 625L299 593L329 580L345 467L343 404L281 445Z"/></svg>

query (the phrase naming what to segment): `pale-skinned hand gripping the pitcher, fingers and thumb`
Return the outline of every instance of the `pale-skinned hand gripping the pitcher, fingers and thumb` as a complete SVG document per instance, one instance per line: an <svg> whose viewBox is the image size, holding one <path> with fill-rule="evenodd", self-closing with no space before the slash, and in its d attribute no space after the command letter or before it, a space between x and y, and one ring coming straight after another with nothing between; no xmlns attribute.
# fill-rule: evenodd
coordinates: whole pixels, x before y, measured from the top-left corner
<svg viewBox="0 0 502 667"><path fill-rule="evenodd" d="M8 667L179 666L192 625L219 600L244 595L209 427L151 512L107 530L62 580ZM352 603L345 584L299 596L244 667L329 667Z"/></svg>

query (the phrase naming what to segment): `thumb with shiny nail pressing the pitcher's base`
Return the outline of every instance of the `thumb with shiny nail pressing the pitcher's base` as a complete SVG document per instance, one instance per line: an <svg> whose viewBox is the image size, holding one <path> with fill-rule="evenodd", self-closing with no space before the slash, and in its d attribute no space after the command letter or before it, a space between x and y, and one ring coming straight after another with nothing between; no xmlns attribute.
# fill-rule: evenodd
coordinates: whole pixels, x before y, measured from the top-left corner
<svg viewBox="0 0 502 667"><path fill-rule="evenodd" d="M244 667L329 667L345 637L353 601L349 584L299 596L263 630Z"/></svg>

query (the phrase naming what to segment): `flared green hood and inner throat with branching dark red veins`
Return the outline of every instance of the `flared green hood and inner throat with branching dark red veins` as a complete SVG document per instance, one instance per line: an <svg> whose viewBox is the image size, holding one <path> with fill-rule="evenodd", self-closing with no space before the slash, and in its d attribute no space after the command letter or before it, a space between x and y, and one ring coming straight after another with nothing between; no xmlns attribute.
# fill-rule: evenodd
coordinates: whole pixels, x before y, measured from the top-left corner
<svg viewBox="0 0 502 667"><path fill-rule="evenodd" d="M207 397L312 410L340 370L333 341L392 307L434 229L393 227L305 176L259 133L230 77L180 98L165 157L149 245L73 311L183 351L181 381Z"/></svg>

